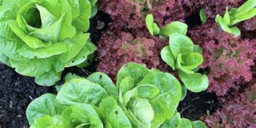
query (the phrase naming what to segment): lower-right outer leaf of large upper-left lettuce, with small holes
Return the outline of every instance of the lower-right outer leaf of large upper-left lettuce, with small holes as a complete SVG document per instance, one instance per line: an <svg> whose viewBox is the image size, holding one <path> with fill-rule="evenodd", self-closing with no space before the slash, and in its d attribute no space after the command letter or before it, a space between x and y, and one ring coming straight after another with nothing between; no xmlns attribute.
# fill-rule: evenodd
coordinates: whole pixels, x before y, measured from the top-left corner
<svg viewBox="0 0 256 128"><path fill-rule="evenodd" d="M65 67L79 65L85 62L87 59L93 59L88 58L88 56L91 55L95 50L96 46L90 41L87 41L79 53L74 58L69 60L69 62L65 63Z"/></svg>

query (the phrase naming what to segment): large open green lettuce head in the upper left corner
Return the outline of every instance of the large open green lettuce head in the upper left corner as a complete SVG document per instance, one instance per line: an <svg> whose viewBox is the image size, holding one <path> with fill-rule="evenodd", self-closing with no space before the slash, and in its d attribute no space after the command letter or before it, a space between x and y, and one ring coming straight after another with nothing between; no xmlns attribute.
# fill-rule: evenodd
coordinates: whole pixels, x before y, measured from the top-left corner
<svg viewBox="0 0 256 128"><path fill-rule="evenodd" d="M39 85L55 84L65 67L83 63L96 50L85 33L87 0L6 0L0 14L0 61Z"/></svg>

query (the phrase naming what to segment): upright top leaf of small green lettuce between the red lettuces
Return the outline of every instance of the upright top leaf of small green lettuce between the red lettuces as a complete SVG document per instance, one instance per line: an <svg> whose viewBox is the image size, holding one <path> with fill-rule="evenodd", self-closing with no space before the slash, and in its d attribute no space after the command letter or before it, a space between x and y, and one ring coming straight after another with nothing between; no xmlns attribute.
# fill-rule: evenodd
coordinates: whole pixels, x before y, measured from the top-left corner
<svg viewBox="0 0 256 128"><path fill-rule="evenodd" d="M176 59L179 53L192 52L194 44L187 36L180 33L172 33L169 39L169 46Z"/></svg>

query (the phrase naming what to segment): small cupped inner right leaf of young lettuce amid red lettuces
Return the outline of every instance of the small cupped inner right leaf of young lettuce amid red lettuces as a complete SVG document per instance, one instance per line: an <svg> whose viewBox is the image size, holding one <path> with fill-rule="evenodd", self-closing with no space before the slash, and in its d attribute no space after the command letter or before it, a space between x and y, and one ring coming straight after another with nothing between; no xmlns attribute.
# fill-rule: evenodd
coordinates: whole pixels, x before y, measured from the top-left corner
<svg viewBox="0 0 256 128"><path fill-rule="evenodd" d="M203 56L198 52L191 52L186 55L182 55L182 59L185 63L183 68L186 69L195 69L203 63Z"/></svg>

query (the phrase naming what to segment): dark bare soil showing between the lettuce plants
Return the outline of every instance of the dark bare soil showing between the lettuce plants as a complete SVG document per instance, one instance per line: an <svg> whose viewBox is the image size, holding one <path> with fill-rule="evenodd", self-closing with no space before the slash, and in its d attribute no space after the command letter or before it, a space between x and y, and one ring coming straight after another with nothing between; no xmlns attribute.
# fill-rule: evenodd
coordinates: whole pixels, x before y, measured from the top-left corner
<svg viewBox="0 0 256 128"><path fill-rule="evenodd" d="M198 17L192 15L186 19L188 28L191 29L200 24ZM101 11L91 19L89 32L92 42L96 45L102 33L106 31L106 24L109 22L111 22L111 18ZM86 77L96 71L97 64L98 60L95 59L89 67L84 69L75 66L66 68L63 71L62 80L57 84L62 84L65 75L69 72ZM39 86L34 82L34 78L19 75L14 69L0 63L0 128L29 127L25 115L26 107L33 99L44 93L56 94L56 89L54 86ZM214 93L188 92L186 98L180 102L178 111L181 113L181 117L196 120L202 114L206 114L207 110L210 113L214 112L217 108L216 104L217 97Z"/></svg>

